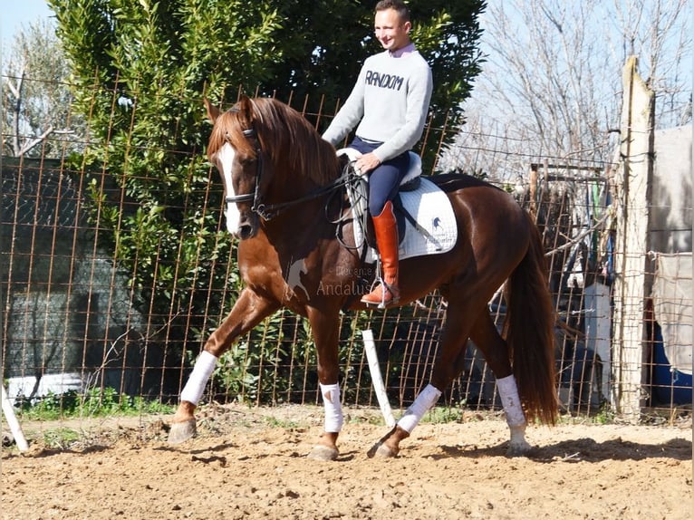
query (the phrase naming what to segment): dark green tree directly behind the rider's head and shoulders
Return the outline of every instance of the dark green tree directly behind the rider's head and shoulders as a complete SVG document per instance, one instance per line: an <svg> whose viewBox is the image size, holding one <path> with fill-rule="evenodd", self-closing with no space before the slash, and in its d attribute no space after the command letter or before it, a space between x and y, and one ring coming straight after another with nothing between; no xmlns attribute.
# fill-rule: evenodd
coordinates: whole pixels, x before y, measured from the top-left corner
<svg viewBox="0 0 694 520"><path fill-rule="evenodd" d="M328 100L344 99L352 88L363 60L381 44L372 34L373 0L278 2L288 23L278 29L284 42L284 60L277 63L271 91L301 97L319 92ZM478 0L409 3L412 40L431 65L434 76L432 112L455 117L459 103L472 91L481 55L478 16L486 3ZM329 16L326 14L329 13Z"/></svg>

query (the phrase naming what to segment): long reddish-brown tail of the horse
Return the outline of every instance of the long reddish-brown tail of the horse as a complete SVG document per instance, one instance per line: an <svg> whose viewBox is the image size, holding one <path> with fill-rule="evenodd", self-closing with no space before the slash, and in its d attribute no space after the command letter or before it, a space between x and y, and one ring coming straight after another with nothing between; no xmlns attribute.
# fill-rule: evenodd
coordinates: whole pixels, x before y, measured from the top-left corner
<svg viewBox="0 0 694 520"><path fill-rule="evenodd" d="M506 342L528 421L557 418L554 306L540 232L527 215L530 244L506 285Z"/></svg>

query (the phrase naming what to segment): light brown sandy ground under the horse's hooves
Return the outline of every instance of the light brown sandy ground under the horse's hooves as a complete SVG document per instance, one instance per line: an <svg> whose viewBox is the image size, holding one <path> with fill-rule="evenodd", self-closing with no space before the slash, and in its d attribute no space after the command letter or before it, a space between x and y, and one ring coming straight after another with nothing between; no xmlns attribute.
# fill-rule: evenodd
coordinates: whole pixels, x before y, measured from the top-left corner
<svg viewBox="0 0 694 520"><path fill-rule="evenodd" d="M532 427L531 457L505 457L498 416L420 424L400 457L366 452L387 431L348 409L337 461L305 454L322 409L214 407L198 437L166 442L169 418L24 425L2 452L5 519L690 519L691 416L670 426ZM5 425L4 425L5 426ZM56 429L53 429L53 426ZM58 432L80 438L50 448Z"/></svg>

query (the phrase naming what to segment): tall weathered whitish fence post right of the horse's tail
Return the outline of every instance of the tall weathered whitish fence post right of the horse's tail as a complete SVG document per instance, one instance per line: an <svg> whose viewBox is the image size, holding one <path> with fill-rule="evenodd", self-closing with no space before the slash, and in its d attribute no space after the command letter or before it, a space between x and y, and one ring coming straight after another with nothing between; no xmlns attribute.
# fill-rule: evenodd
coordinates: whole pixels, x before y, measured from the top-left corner
<svg viewBox="0 0 694 520"><path fill-rule="evenodd" d="M622 82L621 172L615 181L617 236L614 249L614 332L612 402L623 419L641 417L644 311L651 287L648 273L648 223L653 177L654 94L637 72L637 58L624 65Z"/></svg>

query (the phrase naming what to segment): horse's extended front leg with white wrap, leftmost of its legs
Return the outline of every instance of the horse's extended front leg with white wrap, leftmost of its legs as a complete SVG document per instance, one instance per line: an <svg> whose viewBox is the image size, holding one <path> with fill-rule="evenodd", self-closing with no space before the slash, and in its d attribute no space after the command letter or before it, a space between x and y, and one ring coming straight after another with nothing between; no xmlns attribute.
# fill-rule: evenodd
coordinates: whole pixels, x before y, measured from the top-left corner
<svg viewBox="0 0 694 520"><path fill-rule="evenodd" d="M169 443L178 444L195 435L195 409L207 381L217 366L219 356L229 349L237 337L250 331L278 308L277 303L255 294L248 288L242 291L227 318L207 339L186 386L181 391L180 403L171 421Z"/></svg>

